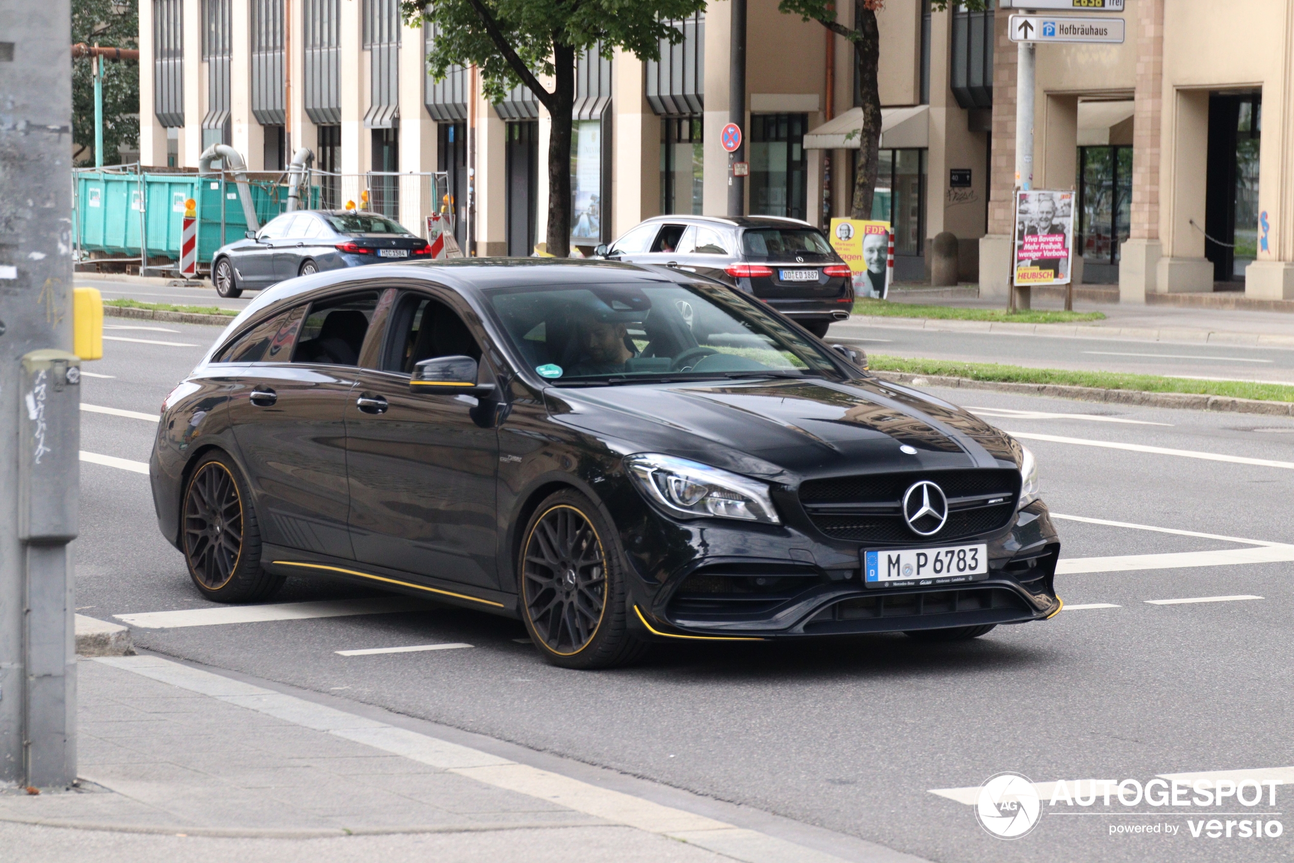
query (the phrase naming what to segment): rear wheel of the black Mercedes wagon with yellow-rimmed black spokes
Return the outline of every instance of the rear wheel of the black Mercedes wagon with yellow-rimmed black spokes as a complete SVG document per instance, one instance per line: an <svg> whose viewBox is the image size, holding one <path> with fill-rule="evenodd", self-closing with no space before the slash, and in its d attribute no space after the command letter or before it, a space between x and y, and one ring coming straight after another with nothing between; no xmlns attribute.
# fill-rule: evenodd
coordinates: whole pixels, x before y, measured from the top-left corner
<svg viewBox="0 0 1294 863"><path fill-rule="evenodd" d="M268 599L283 576L260 565L260 527L251 490L224 453L203 455L184 488L181 547L189 577L219 603Z"/></svg>

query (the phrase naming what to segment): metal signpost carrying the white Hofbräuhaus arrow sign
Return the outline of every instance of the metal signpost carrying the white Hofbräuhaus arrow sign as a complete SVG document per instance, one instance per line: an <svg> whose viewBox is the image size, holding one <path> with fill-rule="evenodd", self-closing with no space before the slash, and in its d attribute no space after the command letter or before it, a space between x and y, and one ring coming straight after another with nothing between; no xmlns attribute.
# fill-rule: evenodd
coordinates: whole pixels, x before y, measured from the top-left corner
<svg viewBox="0 0 1294 863"><path fill-rule="evenodd" d="M1123 12L1123 0L1002 0L1003 9L1068 9L1075 12ZM1123 18L1083 18L1077 16L1011 16L1007 36L1016 43L1016 193L1034 188L1034 80L1038 43L1123 44ZM1011 264L1009 308L1027 309L1030 286L1016 281L1016 261ZM1070 300L1066 299L1066 308Z"/></svg>

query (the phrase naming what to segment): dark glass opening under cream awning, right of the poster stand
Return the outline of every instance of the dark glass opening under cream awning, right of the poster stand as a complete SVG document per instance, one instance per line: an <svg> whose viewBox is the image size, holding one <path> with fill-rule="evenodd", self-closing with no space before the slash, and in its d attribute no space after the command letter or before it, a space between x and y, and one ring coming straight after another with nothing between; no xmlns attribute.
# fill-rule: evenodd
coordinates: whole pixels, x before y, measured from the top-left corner
<svg viewBox="0 0 1294 863"><path fill-rule="evenodd" d="M1083 281L1118 283L1119 247L1128 238L1132 207L1132 147L1078 147L1078 237Z"/></svg>

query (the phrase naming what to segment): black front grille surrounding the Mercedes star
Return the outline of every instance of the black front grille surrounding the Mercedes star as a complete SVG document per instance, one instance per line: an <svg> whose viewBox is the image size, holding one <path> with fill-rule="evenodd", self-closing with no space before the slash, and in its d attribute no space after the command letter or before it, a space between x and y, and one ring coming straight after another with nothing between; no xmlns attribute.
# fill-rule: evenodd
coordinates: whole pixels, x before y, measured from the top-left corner
<svg viewBox="0 0 1294 863"><path fill-rule="evenodd" d="M930 480L949 498L949 519L932 537L914 533L903 520L903 494ZM819 530L833 540L872 543L945 542L1007 527L1020 494L1020 472L983 468L876 474L809 480L800 502Z"/></svg>

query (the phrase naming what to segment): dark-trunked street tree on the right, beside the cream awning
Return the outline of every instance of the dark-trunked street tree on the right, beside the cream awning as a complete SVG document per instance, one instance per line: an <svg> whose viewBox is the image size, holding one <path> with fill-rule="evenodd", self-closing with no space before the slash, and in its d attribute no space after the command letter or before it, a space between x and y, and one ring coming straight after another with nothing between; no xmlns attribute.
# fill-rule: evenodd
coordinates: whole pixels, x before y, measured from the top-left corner
<svg viewBox="0 0 1294 863"><path fill-rule="evenodd" d="M991 5L991 0L930 0L930 8L943 12L949 4L970 12L981 12ZM876 194L876 172L880 168L881 153L881 92L879 70L881 60L880 28L876 13L885 6L885 0L857 0L855 26L850 27L836 18L835 0L780 0L778 9L787 14L797 14L804 21L817 21L827 30L854 43L854 65L859 82L862 101L862 126L848 136L858 136L858 167L854 172L854 195L850 202L850 215L854 219L872 217L872 198Z"/></svg>

